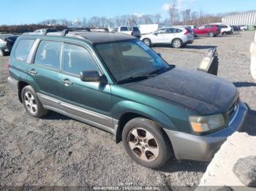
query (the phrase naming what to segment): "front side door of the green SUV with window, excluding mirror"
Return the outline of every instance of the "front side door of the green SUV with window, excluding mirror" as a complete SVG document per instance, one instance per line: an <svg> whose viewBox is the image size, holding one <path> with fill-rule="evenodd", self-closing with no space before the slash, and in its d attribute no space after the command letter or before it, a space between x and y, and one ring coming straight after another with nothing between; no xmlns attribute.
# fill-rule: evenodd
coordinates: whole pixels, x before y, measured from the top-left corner
<svg viewBox="0 0 256 191"><path fill-rule="evenodd" d="M99 70L89 49L78 44L64 44L61 61L61 98L65 112L73 114L92 125L113 126L110 118L110 85L99 82L82 82L80 71Z"/></svg>

